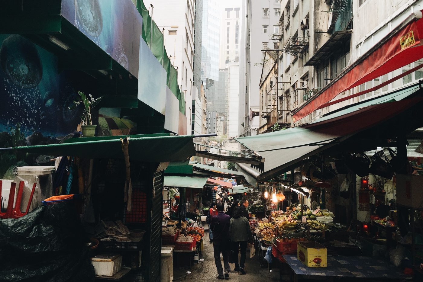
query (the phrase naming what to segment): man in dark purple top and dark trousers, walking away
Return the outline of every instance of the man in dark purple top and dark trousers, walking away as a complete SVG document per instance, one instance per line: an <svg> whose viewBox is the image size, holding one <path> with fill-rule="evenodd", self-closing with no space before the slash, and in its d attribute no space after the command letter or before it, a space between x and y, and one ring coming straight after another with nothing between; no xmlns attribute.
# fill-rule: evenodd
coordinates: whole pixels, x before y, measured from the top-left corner
<svg viewBox="0 0 423 282"><path fill-rule="evenodd" d="M211 218L210 228L213 231L213 252L214 263L216 263L218 279L228 279L231 268L229 266L229 222L231 216L223 212L223 204L217 204L217 216ZM225 273L223 273L222 263L220 262L220 253L223 256L223 266Z"/></svg>

